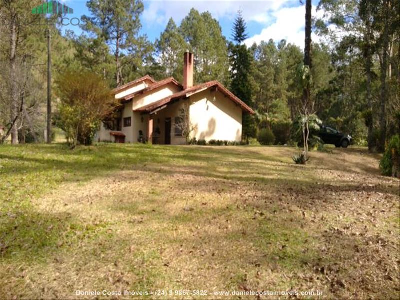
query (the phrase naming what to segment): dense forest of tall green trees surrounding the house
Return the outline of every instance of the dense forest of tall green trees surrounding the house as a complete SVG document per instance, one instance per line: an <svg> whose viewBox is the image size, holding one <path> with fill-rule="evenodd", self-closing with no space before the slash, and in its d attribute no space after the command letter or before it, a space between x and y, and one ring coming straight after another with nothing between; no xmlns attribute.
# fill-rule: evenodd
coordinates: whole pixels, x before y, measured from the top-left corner
<svg viewBox="0 0 400 300"><path fill-rule="evenodd" d="M271 143L296 140L303 49L284 39L247 47L240 11L232 36L223 36L209 12L193 8L180 24L169 19L152 43L140 34L141 1L88 1L91 15L82 17L79 36L60 34L60 17L48 22L45 15L32 14L40 3L1 0L0 125L12 143L44 138L47 30L53 82L82 70L101 76L110 88L145 74L181 81L183 52L189 50L195 54L195 84L217 79L256 111L243 119L246 140L262 129L270 131ZM317 9L324 16L312 18L312 31L325 42L311 44L310 112L350 133L355 144L382 151L399 131L400 1L321 0ZM58 101L53 96L54 126L59 126Z"/></svg>

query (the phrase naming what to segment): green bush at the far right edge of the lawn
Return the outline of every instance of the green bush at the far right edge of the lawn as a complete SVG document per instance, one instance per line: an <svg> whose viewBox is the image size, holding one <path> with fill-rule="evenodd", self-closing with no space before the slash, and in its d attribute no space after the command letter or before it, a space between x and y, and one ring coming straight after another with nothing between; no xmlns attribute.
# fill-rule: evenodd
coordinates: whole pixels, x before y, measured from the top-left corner
<svg viewBox="0 0 400 300"><path fill-rule="evenodd" d="M398 135L390 139L379 166L382 175L400 178L400 137Z"/></svg>

